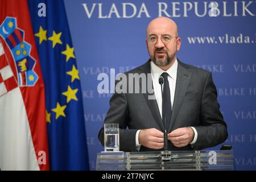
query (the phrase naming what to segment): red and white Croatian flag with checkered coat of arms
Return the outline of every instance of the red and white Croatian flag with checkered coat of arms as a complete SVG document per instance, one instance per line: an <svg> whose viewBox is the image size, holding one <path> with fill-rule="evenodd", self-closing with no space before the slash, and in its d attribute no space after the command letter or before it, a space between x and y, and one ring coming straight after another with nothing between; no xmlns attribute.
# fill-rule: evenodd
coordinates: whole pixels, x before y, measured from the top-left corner
<svg viewBox="0 0 256 182"><path fill-rule="evenodd" d="M44 82L27 1L0 1L0 168L49 170Z"/></svg>

